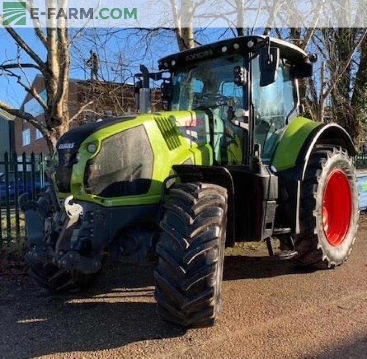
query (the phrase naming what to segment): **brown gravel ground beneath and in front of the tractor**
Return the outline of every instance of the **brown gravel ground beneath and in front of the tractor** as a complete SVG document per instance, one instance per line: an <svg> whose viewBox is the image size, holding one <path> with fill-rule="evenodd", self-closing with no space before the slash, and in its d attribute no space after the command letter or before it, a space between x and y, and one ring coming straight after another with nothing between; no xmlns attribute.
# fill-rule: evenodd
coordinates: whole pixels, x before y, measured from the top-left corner
<svg viewBox="0 0 367 359"><path fill-rule="evenodd" d="M228 250L214 327L183 330L155 314L152 269L110 265L83 294L52 295L16 261L0 265L1 358L367 358L367 216L350 260L304 272Z"/></svg>

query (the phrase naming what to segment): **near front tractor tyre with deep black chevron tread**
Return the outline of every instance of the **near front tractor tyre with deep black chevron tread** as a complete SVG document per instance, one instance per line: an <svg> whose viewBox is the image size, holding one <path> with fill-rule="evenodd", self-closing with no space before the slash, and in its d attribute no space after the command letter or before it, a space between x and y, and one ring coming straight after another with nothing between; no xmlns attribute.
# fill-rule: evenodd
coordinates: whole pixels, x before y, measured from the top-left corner
<svg viewBox="0 0 367 359"><path fill-rule="evenodd" d="M154 272L157 311L184 327L211 326L222 307L227 191L187 183L169 195Z"/></svg>

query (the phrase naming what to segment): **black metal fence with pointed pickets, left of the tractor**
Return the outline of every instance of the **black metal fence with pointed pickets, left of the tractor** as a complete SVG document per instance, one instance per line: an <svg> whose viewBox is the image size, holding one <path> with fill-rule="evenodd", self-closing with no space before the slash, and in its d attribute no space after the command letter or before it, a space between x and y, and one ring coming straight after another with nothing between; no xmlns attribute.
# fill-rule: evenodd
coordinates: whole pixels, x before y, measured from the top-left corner
<svg viewBox="0 0 367 359"><path fill-rule="evenodd" d="M36 199L45 188L43 155L4 153L0 158L0 249L23 248L26 229L18 197Z"/></svg>

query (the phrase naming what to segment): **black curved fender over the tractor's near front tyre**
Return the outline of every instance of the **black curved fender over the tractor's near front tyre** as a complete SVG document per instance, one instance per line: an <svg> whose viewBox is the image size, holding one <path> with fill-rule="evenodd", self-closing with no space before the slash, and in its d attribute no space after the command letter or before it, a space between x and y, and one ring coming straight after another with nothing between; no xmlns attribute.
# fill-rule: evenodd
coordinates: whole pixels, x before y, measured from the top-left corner
<svg viewBox="0 0 367 359"><path fill-rule="evenodd" d="M226 247L235 244L235 216L234 216L234 186L232 175L225 167L198 166L195 164L176 164L172 166L182 182L204 182L222 186L227 189L227 229Z"/></svg>

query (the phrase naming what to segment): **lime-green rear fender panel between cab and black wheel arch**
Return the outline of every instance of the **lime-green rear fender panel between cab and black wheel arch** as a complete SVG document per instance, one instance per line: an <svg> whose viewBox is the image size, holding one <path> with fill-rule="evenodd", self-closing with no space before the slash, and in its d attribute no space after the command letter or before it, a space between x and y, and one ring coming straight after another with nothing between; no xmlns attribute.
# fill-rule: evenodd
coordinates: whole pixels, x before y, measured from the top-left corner
<svg viewBox="0 0 367 359"><path fill-rule="evenodd" d="M296 117L286 127L283 136L271 160L271 165L277 171L283 171L294 167L297 162L299 152L310 133L319 126L321 122L315 122L305 117Z"/></svg>

